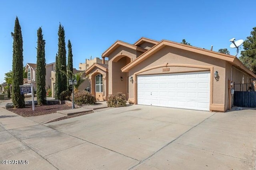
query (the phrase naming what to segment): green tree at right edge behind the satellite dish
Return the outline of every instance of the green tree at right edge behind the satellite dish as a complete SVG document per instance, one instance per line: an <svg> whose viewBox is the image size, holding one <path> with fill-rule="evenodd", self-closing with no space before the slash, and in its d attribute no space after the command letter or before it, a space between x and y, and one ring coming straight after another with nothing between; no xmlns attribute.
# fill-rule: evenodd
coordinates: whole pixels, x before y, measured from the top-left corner
<svg viewBox="0 0 256 170"><path fill-rule="evenodd" d="M256 74L256 27L252 29L251 35L243 43L244 51L241 51L239 59Z"/></svg>

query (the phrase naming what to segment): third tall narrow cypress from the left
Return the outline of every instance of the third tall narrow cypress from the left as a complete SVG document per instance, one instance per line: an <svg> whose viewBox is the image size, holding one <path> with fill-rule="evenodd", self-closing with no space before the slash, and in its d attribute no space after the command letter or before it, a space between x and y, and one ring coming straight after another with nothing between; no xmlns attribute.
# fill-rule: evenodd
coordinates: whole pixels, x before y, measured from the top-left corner
<svg viewBox="0 0 256 170"><path fill-rule="evenodd" d="M60 24L58 31L58 96L60 93L67 90L67 64L66 64L66 44L64 27ZM58 98L59 99L59 98Z"/></svg>

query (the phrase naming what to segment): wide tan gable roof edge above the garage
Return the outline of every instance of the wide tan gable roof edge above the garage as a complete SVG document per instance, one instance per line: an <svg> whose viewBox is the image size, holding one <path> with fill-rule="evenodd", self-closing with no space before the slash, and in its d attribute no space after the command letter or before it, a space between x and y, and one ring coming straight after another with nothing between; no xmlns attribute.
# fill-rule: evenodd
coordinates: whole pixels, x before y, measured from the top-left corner
<svg viewBox="0 0 256 170"><path fill-rule="evenodd" d="M138 58L136 58L134 61L132 61L132 63L129 63L126 66L124 66L121 69L122 72L128 72L128 70L130 70L132 67L138 65L139 63L146 60L148 57L150 57L151 55L153 55L154 53L156 53L157 51L159 51L160 49L162 49L163 47L166 47L166 46L175 47L175 48L178 48L178 49L183 49L183 50L191 51L191 52L194 52L194 53L207 55L207 56L210 56L210 57L214 57L214 58L218 58L218 59L228 61L228 62L242 68L248 74L256 77L256 75L252 71L250 71L246 66L244 66L244 64L242 64L242 62L238 58L236 58L235 56L226 55L226 54L223 54L223 53L218 53L218 52L215 52L215 51L210 51L210 50L207 50L207 49L193 47L193 46L190 46L190 45L185 45L185 44L182 44L182 43L176 43L176 42L168 41L168 40L160 41L157 45L155 45L154 47L152 47L151 49L149 49L148 51L146 51L145 53L140 55Z"/></svg>

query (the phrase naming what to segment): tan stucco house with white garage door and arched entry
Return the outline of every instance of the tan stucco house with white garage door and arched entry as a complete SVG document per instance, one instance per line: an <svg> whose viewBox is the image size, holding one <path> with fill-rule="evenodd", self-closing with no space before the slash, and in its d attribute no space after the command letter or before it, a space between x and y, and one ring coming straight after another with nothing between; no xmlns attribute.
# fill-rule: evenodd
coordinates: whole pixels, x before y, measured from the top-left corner
<svg viewBox="0 0 256 170"><path fill-rule="evenodd" d="M232 83L256 78L235 56L144 37L134 44L116 41L86 74L92 93L103 99L122 92L134 104L207 111L226 111Z"/></svg>

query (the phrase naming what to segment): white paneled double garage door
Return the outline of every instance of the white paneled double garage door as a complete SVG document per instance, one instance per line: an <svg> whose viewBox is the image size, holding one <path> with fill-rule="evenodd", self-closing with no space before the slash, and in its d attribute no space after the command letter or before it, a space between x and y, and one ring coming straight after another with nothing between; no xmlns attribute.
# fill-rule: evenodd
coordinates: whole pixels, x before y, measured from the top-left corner
<svg viewBox="0 0 256 170"><path fill-rule="evenodd" d="M210 72L141 75L138 104L210 110Z"/></svg>

